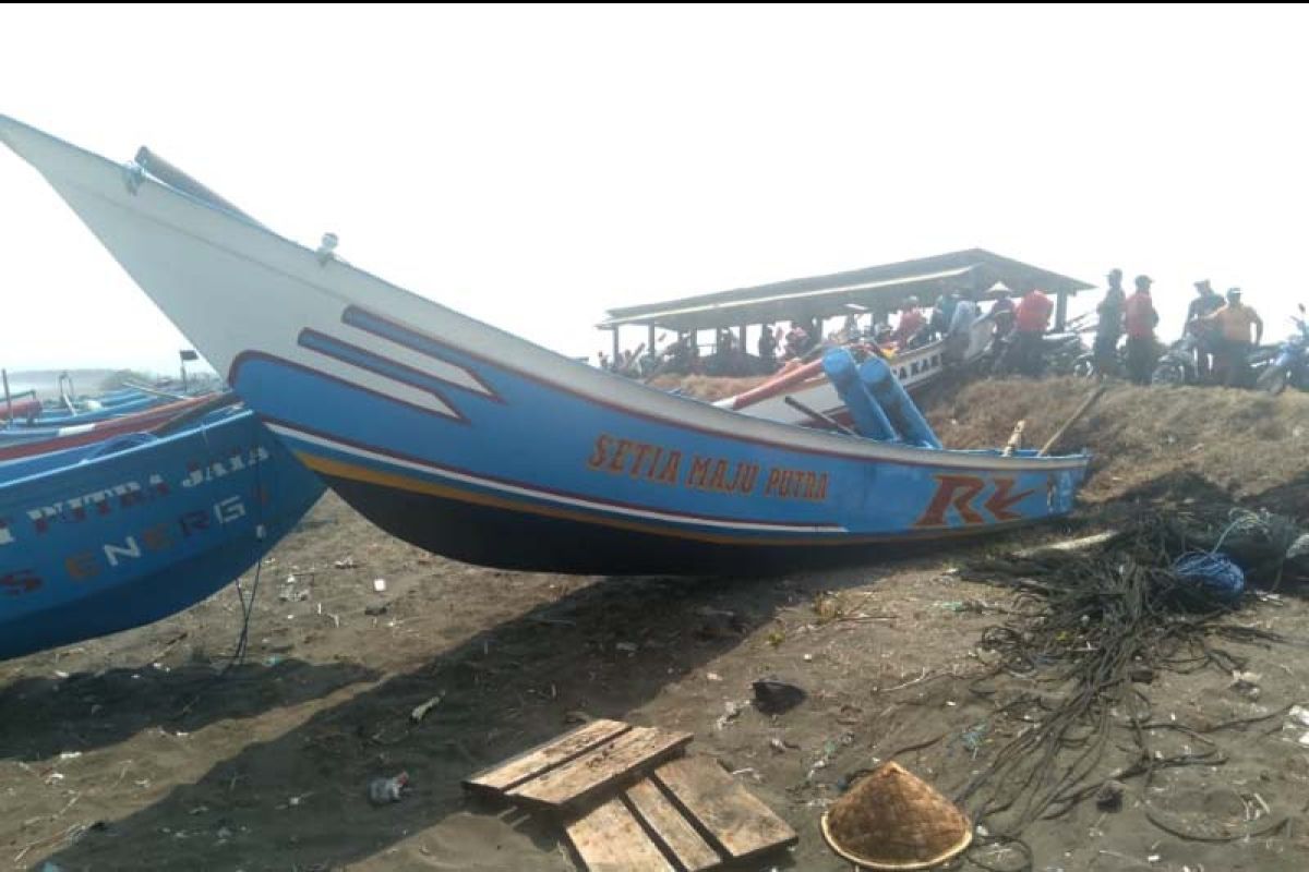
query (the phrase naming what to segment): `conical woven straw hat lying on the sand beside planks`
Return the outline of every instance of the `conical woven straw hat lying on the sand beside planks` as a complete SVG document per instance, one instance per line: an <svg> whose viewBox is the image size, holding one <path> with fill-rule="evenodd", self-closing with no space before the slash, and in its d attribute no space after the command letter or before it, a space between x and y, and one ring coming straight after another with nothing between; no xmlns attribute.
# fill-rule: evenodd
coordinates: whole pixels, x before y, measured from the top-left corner
<svg viewBox="0 0 1309 872"><path fill-rule="evenodd" d="M959 855L973 825L931 784L884 763L822 816L833 851L868 869L927 869Z"/></svg>

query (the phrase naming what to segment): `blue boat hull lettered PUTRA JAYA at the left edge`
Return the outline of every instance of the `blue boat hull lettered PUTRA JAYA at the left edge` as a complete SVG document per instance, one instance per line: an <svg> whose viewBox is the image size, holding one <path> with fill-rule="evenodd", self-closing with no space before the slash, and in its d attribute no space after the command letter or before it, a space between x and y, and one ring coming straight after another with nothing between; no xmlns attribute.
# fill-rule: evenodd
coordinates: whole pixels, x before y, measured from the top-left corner
<svg viewBox="0 0 1309 872"><path fill-rule="evenodd" d="M322 494L249 411L14 460L0 484L0 658L140 626L236 579Z"/></svg>

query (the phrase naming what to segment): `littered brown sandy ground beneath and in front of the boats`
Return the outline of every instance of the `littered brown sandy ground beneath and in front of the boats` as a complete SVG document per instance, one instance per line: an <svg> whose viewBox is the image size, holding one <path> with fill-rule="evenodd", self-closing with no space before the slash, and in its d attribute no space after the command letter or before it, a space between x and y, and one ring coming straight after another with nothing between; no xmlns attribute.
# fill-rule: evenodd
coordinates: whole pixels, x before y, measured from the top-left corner
<svg viewBox="0 0 1309 872"><path fill-rule="evenodd" d="M1302 494L1299 456L1254 493ZM260 567L250 652L226 675L242 625L230 588L149 628L0 663L0 868L572 869L554 824L470 801L459 779L606 716L694 732L692 753L781 814L800 845L762 868L848 869L817 829L847 775L894 757L952 795L1012 735L975 686L979 637L1011 594L949 570L980 548L1093 527L1128 484L1177 472L1166 465L1103 485L1076 531L784 578L476 569L329 494ZM1309 604L1283 594L1228 620L1309 639ZM1309 703L1309 646L1227 647L1261 676L1257 698L1215 669L1162 673L1157 715L1213 726ZM761 714L750 684L767 676L808 699ZM1225 763L1131 780L1119 812L1088 803L1031 826L1034 868L1309 868L1309 749L1284 722L1210 733ZM1128 756L1122 743L1105 771ZM372 807L369 780L402 770L412 792ZM1195 835L1287 822L1183 839L1149 822L1147 801Z"/></svg>

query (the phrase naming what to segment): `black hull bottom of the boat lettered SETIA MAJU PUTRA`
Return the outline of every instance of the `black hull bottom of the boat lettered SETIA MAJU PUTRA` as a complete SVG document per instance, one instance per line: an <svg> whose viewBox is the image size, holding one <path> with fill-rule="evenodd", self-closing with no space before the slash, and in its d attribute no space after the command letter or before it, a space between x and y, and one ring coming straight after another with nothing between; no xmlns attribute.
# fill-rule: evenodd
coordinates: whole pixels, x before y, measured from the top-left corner
<svg viewBox="0 0 1309 872"><path fill-rule="evenodd" d="M923 552L932 540L848 545L734 545L483 506L325 476L361 515L436 554L466 563L576 575L740 575L868 562Z"/></svg>

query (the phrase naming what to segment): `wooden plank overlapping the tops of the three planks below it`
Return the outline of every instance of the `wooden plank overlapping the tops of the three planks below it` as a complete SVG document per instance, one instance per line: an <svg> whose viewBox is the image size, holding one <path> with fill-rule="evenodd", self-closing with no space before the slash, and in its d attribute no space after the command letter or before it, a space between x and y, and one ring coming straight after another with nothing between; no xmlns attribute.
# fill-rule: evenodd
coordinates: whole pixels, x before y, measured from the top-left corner
<svg viewBox="0 0 1309 872"><path fill-rule="evenodd" d="M679 754L689 741L689 732L634 727L572 762L514 787L509 791L509 797L550 808L581 803L597 791L615 787L628 778L635 779L647 769Z"/></svg>

